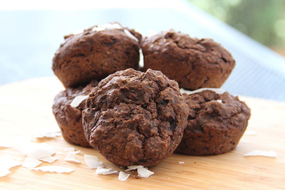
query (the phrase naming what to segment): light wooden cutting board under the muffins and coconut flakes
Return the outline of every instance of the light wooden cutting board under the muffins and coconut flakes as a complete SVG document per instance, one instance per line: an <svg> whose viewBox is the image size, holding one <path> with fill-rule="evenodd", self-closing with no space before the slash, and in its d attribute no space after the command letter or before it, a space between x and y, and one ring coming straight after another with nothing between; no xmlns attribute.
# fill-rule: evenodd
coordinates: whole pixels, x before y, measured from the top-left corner
<svg viewBox="0 0 285 190"><path fill-rule="evenodd" d="M0 86L0 138L13 141L21 137L34 139L32 130L57 125L51 105L54 96L64 90L55 77L36 78ZM34 139L55 149L54 163L75 169L71 173L50 173L12 167L12 173L0 177L0 189L285 189L285 103L240 97L252 110L247 130L256 135L244 135L238 147L214 156L172 154L164 162L148 168L154 174L135 179L137 171L126 181L118 180L125 169L110 163L96 150L71 145L62 137ZM81 150L76 158L81 163L64 161L65 147ZM253 150L273 150L277 157L244 154ZM111 175L94 174L84 161L84 154L95 155L107 168L118 172ZM10 156L23 163L25 155L14 148L0 148L0 156ZM180 164L179 161L184 163Z"/></svg>

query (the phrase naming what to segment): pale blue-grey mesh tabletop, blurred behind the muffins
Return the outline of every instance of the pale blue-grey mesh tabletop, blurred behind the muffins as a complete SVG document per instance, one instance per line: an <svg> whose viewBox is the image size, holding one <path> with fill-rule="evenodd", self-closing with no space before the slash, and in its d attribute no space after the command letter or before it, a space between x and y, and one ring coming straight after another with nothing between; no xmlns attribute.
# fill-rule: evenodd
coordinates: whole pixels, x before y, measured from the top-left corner
<svg viewBox="0 0 285 190"><path fill-rule="evenodd" d="M63 36L80 28L118 21L146 34L170 28L212 38L236 66L222 86L231 94L285 101L285 58L190 4L153 9L0 11L0 85L53 76L54 52ZM182 5L183 6L182 6Z"/></svg>

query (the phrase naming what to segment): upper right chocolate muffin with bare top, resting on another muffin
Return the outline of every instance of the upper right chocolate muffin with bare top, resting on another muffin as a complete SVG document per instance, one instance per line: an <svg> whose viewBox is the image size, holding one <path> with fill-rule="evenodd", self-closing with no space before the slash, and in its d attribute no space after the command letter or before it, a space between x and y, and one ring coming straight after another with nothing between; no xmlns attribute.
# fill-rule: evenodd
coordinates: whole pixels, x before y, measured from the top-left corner
<svg viewBox="0 0 285 190"><path fill-rule="evenodd" d="M166 31L142 44L144 71L160 70L180 88L220 88L235 66L231 54L212 39L191 38Z"/></svg>

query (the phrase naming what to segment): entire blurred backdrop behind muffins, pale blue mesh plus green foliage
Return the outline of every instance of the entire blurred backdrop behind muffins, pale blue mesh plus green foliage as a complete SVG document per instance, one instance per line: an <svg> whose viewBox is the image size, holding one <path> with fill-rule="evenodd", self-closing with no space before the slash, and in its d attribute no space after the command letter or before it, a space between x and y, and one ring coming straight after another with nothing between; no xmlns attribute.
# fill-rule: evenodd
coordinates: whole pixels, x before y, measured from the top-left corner
<svg viewBox="0 0 285 190"><path fill-rule="evenodd" d="M281 0L4 1L0 85L54 76L52 58L64 35L114 21L146 35L150 30L174 29L211 38L236 60L224 90L285 101L285 1Z"/></svg>

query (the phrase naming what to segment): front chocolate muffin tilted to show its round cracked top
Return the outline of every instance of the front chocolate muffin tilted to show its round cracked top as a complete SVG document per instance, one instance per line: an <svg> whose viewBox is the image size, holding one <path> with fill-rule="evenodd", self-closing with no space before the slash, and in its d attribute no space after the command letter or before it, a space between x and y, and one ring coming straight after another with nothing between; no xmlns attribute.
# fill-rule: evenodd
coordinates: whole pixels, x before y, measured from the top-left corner
<svg viewBox="0 0 285 190"><path fill-rule="evenodd" d="M160 71L127 69L101 80L86 100L87 141L120 166L154 166L181 141L188 106L178 84Z"/></svg>

